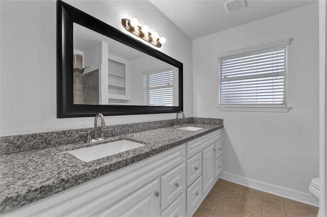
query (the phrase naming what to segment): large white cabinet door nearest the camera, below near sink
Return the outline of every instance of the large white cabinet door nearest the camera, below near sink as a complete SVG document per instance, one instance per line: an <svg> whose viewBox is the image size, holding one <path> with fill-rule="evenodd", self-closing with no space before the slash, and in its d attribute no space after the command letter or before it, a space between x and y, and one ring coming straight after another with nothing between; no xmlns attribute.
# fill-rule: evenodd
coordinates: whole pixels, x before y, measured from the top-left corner
<svg viewBox="0 0 327 217"><path fill-rule="evenodd" d="M155 179L130 196L102 211L98 216L159 216L159 189L159 180Z"/></svg>

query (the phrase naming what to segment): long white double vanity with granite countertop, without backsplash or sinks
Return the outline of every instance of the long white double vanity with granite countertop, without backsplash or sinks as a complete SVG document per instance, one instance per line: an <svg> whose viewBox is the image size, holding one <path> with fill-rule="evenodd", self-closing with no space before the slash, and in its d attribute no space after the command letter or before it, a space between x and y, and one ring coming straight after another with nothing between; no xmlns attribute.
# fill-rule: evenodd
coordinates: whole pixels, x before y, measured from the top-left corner
<svg viewBox="0 0 327 217"><path fill-rule="evenodd" d="M67 153L90 145L82 143L3 155L5 178L13 165L34 162L34 168L16 170L32 180L17 174L16 183L2 183L13 190L2 196L11 209L2 207L3 216L192 216L219 177L223 125L188 126L202 129L171 126L109 138L145 146L90 162ZM9 162L22 155L25 160Z"/></svg>

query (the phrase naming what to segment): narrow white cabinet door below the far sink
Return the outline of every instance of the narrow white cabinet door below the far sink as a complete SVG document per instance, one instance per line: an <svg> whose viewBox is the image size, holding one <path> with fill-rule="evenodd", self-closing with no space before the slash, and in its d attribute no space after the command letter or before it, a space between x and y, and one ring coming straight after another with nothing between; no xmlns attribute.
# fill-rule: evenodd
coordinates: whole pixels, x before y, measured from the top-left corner
<svg viewBox="0 0 327 217"><path fill-rule="evenodd" d="M205 194L215 181L215 144L202 151L202 192Z"/></svg>

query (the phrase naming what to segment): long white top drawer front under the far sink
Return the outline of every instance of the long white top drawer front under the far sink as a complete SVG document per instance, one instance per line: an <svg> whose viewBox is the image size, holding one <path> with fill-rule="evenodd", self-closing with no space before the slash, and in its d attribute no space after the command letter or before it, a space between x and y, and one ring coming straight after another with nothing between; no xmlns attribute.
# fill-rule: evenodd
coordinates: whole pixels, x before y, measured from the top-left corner
<svg viewBox="0 0 327 217"><path fill-rule="evenodd" d="M211 144L221 139L221 129L208 133L186 143L186 158L192 157Z"/></svg>

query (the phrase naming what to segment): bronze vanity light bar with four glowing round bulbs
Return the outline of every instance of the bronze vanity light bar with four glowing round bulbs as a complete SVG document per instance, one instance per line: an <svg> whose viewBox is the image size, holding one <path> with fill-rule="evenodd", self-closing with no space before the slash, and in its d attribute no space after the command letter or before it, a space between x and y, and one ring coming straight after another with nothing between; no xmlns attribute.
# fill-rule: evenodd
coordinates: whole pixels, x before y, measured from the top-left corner
<svg viewBox="0 0 327 217"><path fill-rule="evenodd" d="M125 18L123 18L123 19L122 19L122 25L124 26L124 28L125 28L128 32L130 32L130 33L132 33L132 34L138 36L139 38L142 38L143 40L149 42L150 44L152 44L152 45L154 45L154 46L156 46L156 47L161 47L162 44L160 43L159 38L155 38L155 39L153 39L153 38L151 37L151 33L143 33L143 32L142 32L142 27L139 26L139 25L133 27L133 26L131 25L129 19L125 19ZM166 40L165 40L165 41L166 41Z"/></svg>

